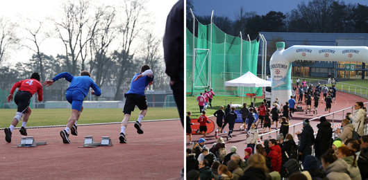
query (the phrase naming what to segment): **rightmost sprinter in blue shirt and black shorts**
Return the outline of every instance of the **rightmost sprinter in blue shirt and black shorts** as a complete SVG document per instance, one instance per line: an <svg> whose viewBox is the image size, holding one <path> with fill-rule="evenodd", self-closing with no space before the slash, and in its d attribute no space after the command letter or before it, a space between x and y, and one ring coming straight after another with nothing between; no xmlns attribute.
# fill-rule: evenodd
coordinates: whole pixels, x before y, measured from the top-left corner
<svg viewBox="0 0 368 180"><path fill-rule="evenodd" d="M122 120L122 127L120 128L120 143L126 143L125 129L131 118L131 111L134 111L134 107L137 106L140 109L140 116L134 124L138 134L143 134L142 119L147 114L147 98L144 94L146 87L153 84L153 72L148 65L143 65L140 69L140 73L134 75L131 81L131 87L125 96L124 104L124 118Z"/></svg>

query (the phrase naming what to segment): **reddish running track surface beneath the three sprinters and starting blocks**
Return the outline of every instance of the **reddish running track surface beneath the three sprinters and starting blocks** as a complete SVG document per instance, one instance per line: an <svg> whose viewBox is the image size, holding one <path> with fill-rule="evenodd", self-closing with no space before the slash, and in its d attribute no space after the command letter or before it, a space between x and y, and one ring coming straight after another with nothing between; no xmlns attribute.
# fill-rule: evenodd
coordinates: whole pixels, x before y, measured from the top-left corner
<svg viewBox="0 0 368 180"><path fill-rule="evenodd" d="M66 122L65 122L66 123ZM63 144L64 128L27 129L37 147L14 147L20 143L18 129L6 143L0 132L0 179L180 179L183 168L183 127L178 120L144 122L144 134L132 123L126 144L119 143L120 124L78 127L78 136ZM112 147L83 146L84 136L110 136Z"/></svg>

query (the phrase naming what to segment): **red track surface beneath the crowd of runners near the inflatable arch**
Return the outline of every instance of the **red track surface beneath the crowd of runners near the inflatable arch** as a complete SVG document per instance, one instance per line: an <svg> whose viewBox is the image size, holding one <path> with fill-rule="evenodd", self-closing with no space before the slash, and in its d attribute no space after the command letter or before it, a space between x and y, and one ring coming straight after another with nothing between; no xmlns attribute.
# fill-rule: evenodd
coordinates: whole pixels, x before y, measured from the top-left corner
<svg viewBox="0 0 368 180"><path fill-rule="evenodd" d="M299 97L299 96L298 96ZM323 98L323 96L321 97ZM304 100L304 99L303 99ZM331 113L334 111L339 111L341 109L345 109L347 107L352 107L353 105L355 105L356 102L358 101L362 101L362 102L367 102L367 99L365 98L361 98L359 96L355 96L349 93L342 93L342 92L337 92L337 98L336 100L333 102L332 106L331 106ZM312 106L314 105L314 102L312 102ZM306 104L300 104L301 107L303 107L304 110L306 110ZM324 108L326 107L326 104L322 104L322 100L319 101L319 106L318 106L318 114L313 114L313 112L311 114L306 114L306 111L303 112L295 112L293 115L292 120L290 120L290 124L294 125L296 123L301 123L303 122L303 119L305 118L315 118L317 116L322 116L324 114L328 114L328 111L325 112ZM328 122L331 123L331 125L333 126L337 126L341 124L342 119L345 117L345 114L351 112L351 109L349 109L348 111L344 111L344 114L342 112L335 114L335 116L326 116L326 119L328 120ZM335 119L333 122L333 118ZM216 122L216 119L214 116L210 117L210 119L212 119L214 122ZM319 124L319 120L313 120L310 122L310 125L313 127L313 130L315 130L315 132L318 131L317 129L317 124ZM243 131L239 130L240 127L240 123L235 123L235 128L234 128L234 132L233 132L233 138L231 138L229 141L226 141L226 134L220 134L220 137L223 137L226 143L226 152L230 152L230 148L231 146L235 145L235 147L237 147L237 154L240 154L240 156L244 156L244 149L246 148L246 134L244 134ZM280 127L280 124L278 124L278 127ZM215 127L217 129L217 125ZM294 132L298 132L301 131L302 129L302 125L296 125L295 126L295 130L290 127L289 129L289 133L294 135ZM262 132L263 129L260 128L260 125L258 125L258 133L260 134ZM271 126L271 131L275 130L275 125ZM224 131L228 132L228 125L226 125L226 127L224 128ZM265 130L265 133L269 132L268 128ZM276 138L276 133L272 133L272 138ZM263 136L263 140L267 139L269 136L269 134ZM192 135L192 141L193 142L198 142L199 138L202 138L203 135ZM206 146L207 147L212 147L212 144L215 143L217 141L217 139L215 138L215 132L212 132L211 134L207 134L206 137ZM189 145L189 140L188 140L188 136L186 138L186 145L187 148L192 148L192 145Z"/></svg>

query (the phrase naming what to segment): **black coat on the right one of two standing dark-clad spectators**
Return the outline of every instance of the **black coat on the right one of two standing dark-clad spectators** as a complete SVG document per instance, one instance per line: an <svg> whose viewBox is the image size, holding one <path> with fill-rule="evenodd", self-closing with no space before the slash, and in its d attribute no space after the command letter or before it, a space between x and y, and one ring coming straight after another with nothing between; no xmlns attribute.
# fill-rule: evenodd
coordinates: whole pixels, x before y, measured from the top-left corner
<svg viewBox="0 0 368 180"><path fill-rule="evenodd" d="M315 139L315 155L317 159L321 157L330 147L332 138L331 123L323 121L317 125L318 132Z"/></svg>

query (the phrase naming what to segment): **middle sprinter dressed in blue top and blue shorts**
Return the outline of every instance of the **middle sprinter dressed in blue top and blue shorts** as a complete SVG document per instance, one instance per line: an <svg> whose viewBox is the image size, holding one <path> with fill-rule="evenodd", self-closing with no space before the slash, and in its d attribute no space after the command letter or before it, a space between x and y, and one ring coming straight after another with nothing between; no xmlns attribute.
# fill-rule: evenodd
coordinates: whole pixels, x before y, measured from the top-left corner
<svg viewBox="0 0 368 180"><path fill-rule="evenodd" d="M72 114L68 120L67 127L60 132L62 143L70 143L69 132L74 136L78 135L78 132L76 131L76 122L81 116L83 111L83 100L85 96L87 96L90 87L94 90L91 92L92 95L101 96L101 90L90 77L91 75L88 71L82 71L81 76L73 76L70 73L64 72L56 75L52 80L44 81L42 83L49 87L53 82L56 82L60 78L65 78L65 80L70 82L67 92L65 93L65 97L67 98L67 101L72 104Z"/></svg>

